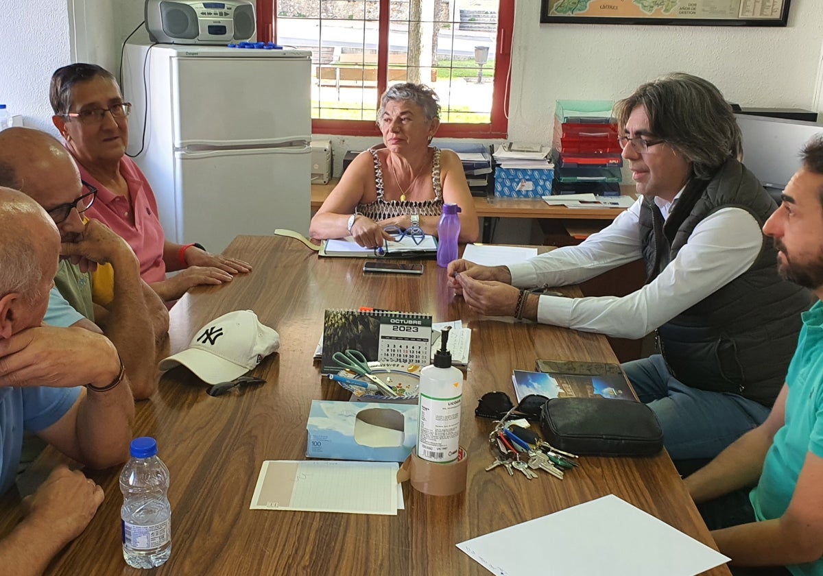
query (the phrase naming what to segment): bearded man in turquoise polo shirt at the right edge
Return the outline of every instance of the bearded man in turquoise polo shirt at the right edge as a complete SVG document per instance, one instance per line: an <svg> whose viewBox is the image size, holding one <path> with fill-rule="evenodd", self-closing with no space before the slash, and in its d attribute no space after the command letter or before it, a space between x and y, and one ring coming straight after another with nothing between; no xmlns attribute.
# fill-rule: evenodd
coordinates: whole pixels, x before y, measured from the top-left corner
<svg viewBox="0 0 823 576"><path fill-rule="evenodd" d="M763 232L779 250L780 274L819 301L802 314L786 383L765 422L686 478L735 574L737 566L785 566L768 574L823 575L823 134L802 160Z"/></svg>

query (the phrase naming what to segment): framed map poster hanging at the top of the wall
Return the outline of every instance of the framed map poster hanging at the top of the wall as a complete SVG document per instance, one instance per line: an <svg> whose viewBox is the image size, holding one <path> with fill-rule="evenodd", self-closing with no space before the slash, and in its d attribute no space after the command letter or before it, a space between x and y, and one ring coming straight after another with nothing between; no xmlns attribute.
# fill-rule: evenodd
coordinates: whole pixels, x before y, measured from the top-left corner
<svg viewBox="0 0 823 576"><path fill-rule="evenodd" d="M540 21L564 24L786 26L789 0L541 0Z"/></svg>

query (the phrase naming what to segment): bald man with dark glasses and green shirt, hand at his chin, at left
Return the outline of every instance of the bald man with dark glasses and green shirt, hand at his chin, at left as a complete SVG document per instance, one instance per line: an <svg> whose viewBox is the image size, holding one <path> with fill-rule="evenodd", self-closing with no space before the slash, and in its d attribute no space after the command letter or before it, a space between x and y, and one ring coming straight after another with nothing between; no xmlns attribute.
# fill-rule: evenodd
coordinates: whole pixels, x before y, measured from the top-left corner
<svg viewBox="0 0 823 576"><path fill-rule="evenodd" d="M71 325L102 332L117 347L134 397L157 388L157 361L165 356L169 314L140 279L137 257L126 242L100 221L86 221L95 190L83 183L77 165L54 137L30 128L0 132L0 186L20 189L44 207L60 231L60 294L85 318ZM114 290L108 302L91 302L91 276L110 264ZM47 316L48 318L48 316Z"/></svg>

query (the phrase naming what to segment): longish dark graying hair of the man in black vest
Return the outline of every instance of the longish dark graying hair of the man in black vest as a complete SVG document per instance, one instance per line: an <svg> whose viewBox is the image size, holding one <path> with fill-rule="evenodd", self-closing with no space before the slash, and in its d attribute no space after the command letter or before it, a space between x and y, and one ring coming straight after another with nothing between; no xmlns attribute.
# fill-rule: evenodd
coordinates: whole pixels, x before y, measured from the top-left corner
<svg viewBox="0 0 823 576"><path fill-rule="evenodd" d="M732 106L714 84L674 72L640 86L615 105L621 132L635 108L649 114L649 129L686 157L698 179L711 179L742 152L742 135Z"/></svg>

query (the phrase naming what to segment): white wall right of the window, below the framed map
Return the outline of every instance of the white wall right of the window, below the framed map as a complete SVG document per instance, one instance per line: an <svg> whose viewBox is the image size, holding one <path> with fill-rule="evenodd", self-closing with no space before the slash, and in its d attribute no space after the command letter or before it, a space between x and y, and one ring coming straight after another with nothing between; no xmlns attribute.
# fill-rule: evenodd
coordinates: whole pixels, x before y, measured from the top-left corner
<svg viewBox="0 0 823 576"><path fill-rule="evenodd" d="M515 9L509 138L545 141L558 99L615 100L667 72L689 72L742 106L814 105L823 2L793 0L788 26L539 24Z"/></svg>

